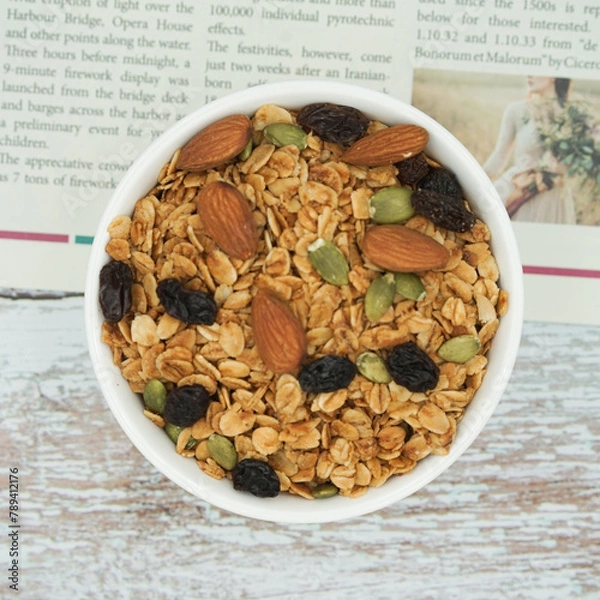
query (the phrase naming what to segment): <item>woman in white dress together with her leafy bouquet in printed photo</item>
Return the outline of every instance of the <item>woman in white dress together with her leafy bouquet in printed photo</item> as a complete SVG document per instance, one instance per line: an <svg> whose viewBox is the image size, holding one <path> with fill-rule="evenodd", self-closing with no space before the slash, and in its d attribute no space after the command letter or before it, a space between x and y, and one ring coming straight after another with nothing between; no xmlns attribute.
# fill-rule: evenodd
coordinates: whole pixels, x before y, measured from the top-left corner
<svg viewBox="0 0 600 600"><path fill-rule="evenodd" d="M570 88L570 79L529 76L526 98L504 111L484 169L513 221L576 224L584 180L600 200L600 130Z"/></svg>

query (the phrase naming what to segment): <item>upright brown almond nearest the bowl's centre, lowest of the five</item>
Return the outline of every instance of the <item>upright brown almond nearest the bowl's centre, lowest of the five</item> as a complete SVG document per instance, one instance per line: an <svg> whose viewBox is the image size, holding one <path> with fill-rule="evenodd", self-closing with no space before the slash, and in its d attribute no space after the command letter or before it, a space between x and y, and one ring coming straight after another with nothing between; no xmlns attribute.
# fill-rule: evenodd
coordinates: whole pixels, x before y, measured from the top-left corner
<svg viewBox="0 0 600 600"><path fill-rule="evenodd" d="M274 373L290 373L306 355L306 335L291 308L273 293L259 290L252 301L252 330L258 354Z"/></svg>

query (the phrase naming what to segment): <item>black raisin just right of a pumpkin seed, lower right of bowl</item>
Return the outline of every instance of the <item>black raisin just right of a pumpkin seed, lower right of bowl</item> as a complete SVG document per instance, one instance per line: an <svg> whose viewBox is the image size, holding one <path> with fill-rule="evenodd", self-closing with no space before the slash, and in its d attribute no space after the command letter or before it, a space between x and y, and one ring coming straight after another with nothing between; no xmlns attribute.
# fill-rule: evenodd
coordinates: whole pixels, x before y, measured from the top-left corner
<svg viewBox="0 0 600 600"><path fill-rule="evenodd" d="M438 366L414 342L394 346L386 365L393 380L411 392L433 389L440 377Z"/></svg>

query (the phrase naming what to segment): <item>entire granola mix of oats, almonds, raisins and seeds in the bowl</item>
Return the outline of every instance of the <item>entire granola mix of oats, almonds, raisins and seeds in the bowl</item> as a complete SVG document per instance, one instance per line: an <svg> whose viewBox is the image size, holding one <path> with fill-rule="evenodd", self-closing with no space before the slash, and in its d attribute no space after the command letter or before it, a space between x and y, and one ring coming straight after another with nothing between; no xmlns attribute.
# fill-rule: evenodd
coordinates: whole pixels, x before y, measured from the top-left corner
<svg viewBox="0 0 600 600"><path fill-rule="evenodd" d="M357 497L448 453L508 297L428 138L264 105L199 132L110 224L103 341L208 475Z"/></svg>

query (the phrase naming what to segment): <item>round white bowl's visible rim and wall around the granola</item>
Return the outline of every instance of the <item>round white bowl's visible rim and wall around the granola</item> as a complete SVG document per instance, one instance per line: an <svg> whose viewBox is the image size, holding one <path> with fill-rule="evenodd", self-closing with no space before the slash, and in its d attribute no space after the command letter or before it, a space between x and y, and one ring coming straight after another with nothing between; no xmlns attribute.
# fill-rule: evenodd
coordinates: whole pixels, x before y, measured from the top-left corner
<svg viewBox="0 0 600 600"><path fill-rule="evenodd" d="M456 439L446 456L428 456L409 474L393 477L359 498L336 496L309 501L290 494L261 499L233 489L230 481L204 474L189 458L174 451L173 443L141 410L139 397L130 391L112 354L101 342L103 322L98 303L98 274L108 261L107 226L120 214L129 215L135 202L156 182L157 174L177 148L208 124L234 113L251 115L267 103L301 108L313 102L353 106L388 125L414 123L429 131L426 152L457 175L466 198L492 233L492 251L501 274L501 287L509 293L509 309L489 352L482 386L458 424ZM498 404L517 356L523 321L522 268L510 220L494 186L481 166L446 129L414 107L385 94L327 81L293 81L266 84L233 93L207 104L177 122L158 137L133 163L109 202L91 249L85 289L85 320L89 351L108 406L138 450L164 475L205 502L233 513L275 522L322 523L364 515L398 502L427 485L472 444Z"/></svg>

